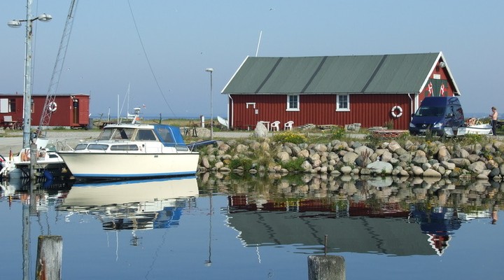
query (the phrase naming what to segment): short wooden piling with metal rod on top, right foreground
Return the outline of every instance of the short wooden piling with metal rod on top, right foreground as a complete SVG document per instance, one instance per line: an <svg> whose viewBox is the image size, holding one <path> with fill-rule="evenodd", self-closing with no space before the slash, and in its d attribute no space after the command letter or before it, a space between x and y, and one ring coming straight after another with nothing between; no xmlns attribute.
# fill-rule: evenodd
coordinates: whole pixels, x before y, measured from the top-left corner
<svg viewBox="0 0 504 280"><path fill-rule="evenodd" d="M344 258L339 255L309 255L309 280L345 280Z"/></svg>

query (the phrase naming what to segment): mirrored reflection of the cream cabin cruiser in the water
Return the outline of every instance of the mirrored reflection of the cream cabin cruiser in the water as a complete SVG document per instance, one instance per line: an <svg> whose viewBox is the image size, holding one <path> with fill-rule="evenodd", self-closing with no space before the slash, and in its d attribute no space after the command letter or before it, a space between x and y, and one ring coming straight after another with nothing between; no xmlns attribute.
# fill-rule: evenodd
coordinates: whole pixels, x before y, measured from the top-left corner
<svg viewBox="0 0 504 280"><path fill-rule="evenodd" d="M197 196L194 176L76 184L58 208L99 216L106 230L169 228Z"/></svg>

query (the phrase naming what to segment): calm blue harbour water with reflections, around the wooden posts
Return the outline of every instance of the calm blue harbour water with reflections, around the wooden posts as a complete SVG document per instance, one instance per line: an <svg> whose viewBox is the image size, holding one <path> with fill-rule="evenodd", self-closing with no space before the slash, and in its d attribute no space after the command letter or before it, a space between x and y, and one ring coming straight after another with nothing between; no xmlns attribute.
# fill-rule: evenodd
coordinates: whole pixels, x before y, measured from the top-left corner
<svg viewBox="0 0 504 280"><path fill-rule="evenodd" d="M1 279L34 279L40 235L62 237L62 279L307 279L325 235L347 279L504 277L495 182L205 174L46 183L31 195L20 185L2 185Z"/></svg>

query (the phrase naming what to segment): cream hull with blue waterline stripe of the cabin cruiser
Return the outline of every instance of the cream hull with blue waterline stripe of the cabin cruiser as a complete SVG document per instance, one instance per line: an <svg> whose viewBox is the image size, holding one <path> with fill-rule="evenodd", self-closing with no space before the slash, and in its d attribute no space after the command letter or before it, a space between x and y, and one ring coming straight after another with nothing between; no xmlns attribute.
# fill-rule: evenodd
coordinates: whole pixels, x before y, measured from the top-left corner
<svg viewBox="0 0 504 280"><path fill-rule="evenodd" d="M133 179L194 175L199 153L59 152L76 179Z"/></svg>

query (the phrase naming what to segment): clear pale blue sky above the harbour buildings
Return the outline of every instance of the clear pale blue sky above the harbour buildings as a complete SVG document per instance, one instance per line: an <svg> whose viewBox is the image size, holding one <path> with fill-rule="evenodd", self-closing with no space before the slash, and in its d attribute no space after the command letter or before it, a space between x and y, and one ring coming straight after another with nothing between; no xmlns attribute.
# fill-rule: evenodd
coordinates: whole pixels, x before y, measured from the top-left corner
<svg viewBox="0 0 504 280"><path fill-rule="evenodd" d="M53 18L34 22L33 93L48 92L70 3L32 2L32 15ZM25 25L7 22L26 6L0 1L2 93L23 92ZM227 118L221 91L247 56L441 51L465 115L504 112L503 11L501 0L82 0L56 92L90 94L92 116L130 104L144 116Z"/></svg>

